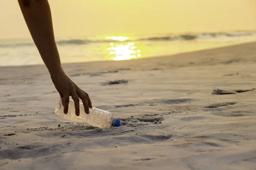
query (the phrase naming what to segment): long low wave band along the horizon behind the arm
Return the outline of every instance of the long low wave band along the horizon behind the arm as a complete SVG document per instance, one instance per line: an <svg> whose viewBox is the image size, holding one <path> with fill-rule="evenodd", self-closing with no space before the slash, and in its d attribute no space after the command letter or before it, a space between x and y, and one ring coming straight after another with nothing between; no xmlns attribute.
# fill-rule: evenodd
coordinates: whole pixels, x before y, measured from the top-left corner
<svg viewBox="0 0 256 170"><path fill-rule="evenodd" d="M208 39L208 38L218 38L218 37L243 37L251 36L256 34L256 32L224 32L224 33L201 33L201 34L179 34L179 35L168 35L168 36L153 36L153 37L139 37L133 40L88 40L88 39L69 39L69 40L57 40L57 45L86 45L90 43L98 42L131 42L131 41L175 41L184 40L191 41L197 39ZM0 42L0 48L15 48L22 46L35 46L32 42Z"/></svg>

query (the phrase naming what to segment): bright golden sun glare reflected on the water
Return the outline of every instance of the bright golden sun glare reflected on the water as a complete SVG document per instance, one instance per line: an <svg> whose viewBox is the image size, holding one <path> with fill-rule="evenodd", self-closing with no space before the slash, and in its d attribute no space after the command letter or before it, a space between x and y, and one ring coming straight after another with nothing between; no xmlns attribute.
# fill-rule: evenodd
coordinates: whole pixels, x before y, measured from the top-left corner
<svg viewBox="0 0 256 170"><path fill-rule="evenodd" d="M108 59L112 60L126 60L142 57L141 46L143 44L138 42L122 42L131 39L126 36L111 36L106 37L107 40L118 40L120 42L110 42L102 45L102 52L106 54Z"/></svg>

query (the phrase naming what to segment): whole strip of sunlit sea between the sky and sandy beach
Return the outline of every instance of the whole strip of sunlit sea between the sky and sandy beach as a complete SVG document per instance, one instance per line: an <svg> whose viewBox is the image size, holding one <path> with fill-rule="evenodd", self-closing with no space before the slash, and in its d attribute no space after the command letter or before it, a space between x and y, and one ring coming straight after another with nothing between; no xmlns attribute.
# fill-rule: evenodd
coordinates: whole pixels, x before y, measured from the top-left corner
<svg viewBox="0 0 256 170"><path fill-rule="evenodd" d="M159 57L256 41L256 32L57 38L62 63ZM32 40L0 40L0 66L43 61Z"/></svg>

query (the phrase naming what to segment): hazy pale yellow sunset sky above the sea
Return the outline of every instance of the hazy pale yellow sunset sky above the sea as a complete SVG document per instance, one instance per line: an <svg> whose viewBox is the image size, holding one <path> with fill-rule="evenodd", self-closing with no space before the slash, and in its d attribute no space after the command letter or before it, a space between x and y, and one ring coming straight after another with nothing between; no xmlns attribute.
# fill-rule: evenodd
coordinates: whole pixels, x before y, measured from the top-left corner
<svg viewBox="0 0 256 170"><path fill-rule="evenodd" d="M49 0L55 37L256 30L256 0ZM0 39L29 38L17 0L0 0Z"/></svg>

